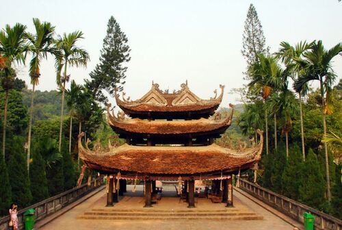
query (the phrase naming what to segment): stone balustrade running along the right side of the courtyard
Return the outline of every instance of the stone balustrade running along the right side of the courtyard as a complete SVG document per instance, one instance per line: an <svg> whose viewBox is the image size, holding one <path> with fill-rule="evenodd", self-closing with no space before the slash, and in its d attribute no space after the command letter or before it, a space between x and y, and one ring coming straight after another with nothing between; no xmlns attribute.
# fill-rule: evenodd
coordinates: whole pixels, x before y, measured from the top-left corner
<svg viewBox="0 0 342 230"><path fill-rule="evenodd" d="M283 214L298 220L299 222L304 222L303 214L308 212L315 216L315 229L328 229L328 230L342 230L342 221L323 212L319 212L312 207L308 207L297 201L288 199L285 196L281 196L267 190L261 186L257 186L254 183L246 181L244 179L239 179L240 189L248 192L257 199L267 203L267 205L274 207Z"/></svg>

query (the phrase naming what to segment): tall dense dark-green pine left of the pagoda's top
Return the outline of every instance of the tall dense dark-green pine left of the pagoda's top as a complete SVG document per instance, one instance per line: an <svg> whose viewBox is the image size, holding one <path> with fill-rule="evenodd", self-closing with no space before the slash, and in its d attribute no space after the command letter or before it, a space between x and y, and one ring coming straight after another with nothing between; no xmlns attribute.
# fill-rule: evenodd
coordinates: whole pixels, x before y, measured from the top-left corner
<svg viewBox="0 0 342 230"><path fill-rule="evenodd" d="M92 80L86 81L86 86L92 91L96 101L107 103L108 99L103 90L109 94L113 94L116 87L122 90L127 71L124 64L131 60L131 49L127 42L128 39L121 31L120 25L114 16L111 16L107 25L107 35L103 39L100 63L90 73Z"/></svg>

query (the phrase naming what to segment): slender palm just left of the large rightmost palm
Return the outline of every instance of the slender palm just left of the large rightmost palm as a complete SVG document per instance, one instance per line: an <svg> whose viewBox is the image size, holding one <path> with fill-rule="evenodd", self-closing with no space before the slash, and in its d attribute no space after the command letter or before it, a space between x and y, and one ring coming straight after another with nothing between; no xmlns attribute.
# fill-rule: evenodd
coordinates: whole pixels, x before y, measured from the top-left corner
<svg viewBox="0 0 342 230"><path fill-rule="evenodd" d="M295 45L295 47L291 47L291 45L288 42L280 43L281 48L279 49L278 52L275 53L275 55L287 66L287 68L292 70L293 80L297 79L298 76L300 76L301 73L304 71L302 66L298 64L297 62L295 62L295 60L302 57L302 54L308 49L311 49L312 45L313 45L313 42L306 43L306 41L299 42L298 44ZM302 91L297 92L298 97L299 97L299 102L300 102L300 131L301 131L301 137L302 137L302 155L303 155L304 162L305 162L305 142L304 142L302 96L306 95L307 90L308 90L308 86L306 84L305 87L302 88Z"/></svg>

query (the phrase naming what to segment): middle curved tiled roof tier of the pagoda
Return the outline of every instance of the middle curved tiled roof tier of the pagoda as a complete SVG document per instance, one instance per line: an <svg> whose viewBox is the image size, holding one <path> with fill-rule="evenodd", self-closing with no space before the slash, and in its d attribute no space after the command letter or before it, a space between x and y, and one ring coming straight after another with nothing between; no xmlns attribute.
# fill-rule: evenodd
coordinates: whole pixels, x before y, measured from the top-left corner
<svg viewBox="0 0 342 230"><path fill-rule="evenodd" d="M175 135L184 133L204 133L210 131L222 131L227 129L233 119L231 114L225 114L224 118L199 120L141 120L139 118L120 120L107 108L107 122L116 131L126 131L140 134Z"/></svg>

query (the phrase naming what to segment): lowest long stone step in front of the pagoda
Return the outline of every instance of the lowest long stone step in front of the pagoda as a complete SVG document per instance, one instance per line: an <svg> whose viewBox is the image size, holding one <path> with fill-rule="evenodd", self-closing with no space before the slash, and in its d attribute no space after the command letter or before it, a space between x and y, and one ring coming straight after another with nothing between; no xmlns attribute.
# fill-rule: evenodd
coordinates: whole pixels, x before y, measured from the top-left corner
<svg viewBox="0 0 342 230"><path fill-rule="evenodd" d="M88 216L256 216L254 212L233 212L233 213L154 213L149 212L85 212Z"/></svg>

